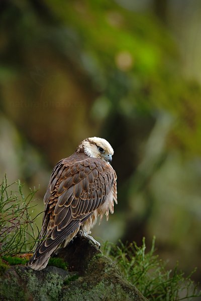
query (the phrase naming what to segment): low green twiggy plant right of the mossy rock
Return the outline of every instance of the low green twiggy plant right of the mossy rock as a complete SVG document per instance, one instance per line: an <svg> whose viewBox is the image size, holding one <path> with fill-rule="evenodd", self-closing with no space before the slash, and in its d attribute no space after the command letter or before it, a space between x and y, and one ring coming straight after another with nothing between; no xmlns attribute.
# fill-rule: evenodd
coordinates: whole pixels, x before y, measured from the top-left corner
<svg viewBox="0 0 201 301"><path fill-rule="evenodd" d="M201 296L197 285L187 277L176 265L173 270L166 269L166 263L155 255L155 238L151 250L145 252L145 239L141 247L135 242L129 245L115 246L106 243L104 253L116 262L126 278L136 285L142 294L149 300L182 300Z"/></svg>

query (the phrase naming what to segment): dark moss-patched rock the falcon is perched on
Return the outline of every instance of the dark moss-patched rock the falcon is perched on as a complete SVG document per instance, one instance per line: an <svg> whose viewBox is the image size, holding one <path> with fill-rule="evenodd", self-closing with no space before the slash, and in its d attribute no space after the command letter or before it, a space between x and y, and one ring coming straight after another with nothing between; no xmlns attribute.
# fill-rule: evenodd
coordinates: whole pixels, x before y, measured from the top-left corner
<svg viewBox="0 0 201 301"><path fill-rule="evenodd" d="M57 257L69 263L70 271L55 266L35 271L23 265L5 270L0 276L0 300L146 300L116 265L84 238L76 238Z"/></svg>

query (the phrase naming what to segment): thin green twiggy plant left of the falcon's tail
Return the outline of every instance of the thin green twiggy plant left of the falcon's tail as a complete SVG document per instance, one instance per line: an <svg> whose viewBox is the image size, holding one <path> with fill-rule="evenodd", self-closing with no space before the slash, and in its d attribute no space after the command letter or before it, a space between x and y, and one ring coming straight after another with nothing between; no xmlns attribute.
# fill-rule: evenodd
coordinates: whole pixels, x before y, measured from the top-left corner
<svg viewBox="0 0 201 301"><path fill-rule="evenodd" d="M16 188L17 192L12 191ZM31 250L36 241L34 220L30 216L35 190L27 197L20 180L8 185L5 176L0 185L0 255L13 255Z"/></svg>

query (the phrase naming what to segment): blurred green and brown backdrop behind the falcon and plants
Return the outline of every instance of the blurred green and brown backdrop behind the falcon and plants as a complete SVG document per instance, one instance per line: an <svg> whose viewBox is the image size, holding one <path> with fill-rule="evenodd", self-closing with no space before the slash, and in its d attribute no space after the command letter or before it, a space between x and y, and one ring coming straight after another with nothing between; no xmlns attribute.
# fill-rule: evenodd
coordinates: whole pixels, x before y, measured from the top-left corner
<svg viewBox="0 0 201 301"><path fill-rule="evenodd" d="M40 185L35 216L54 165L106 138L119 204L93 235L155 235L201 280L200 1L2 0L0 24L1 178Z"/></svg>

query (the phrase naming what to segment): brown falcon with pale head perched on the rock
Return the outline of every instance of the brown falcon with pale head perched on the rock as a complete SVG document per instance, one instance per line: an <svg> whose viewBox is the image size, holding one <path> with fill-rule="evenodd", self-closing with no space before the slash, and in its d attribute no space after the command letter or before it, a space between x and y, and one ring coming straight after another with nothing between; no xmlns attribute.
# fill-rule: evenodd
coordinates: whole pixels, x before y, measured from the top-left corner
<svg viewBox="0 0 201 301"><path fill-rule="evenodd" d="M117 176L111 166L114 150L103 138L86 138L75 153L57 163L44 196L45 213L39 242L28 265L46 267L53 252L77 234L99 246L90 229L117 203Z"/></svg>

